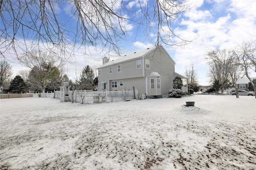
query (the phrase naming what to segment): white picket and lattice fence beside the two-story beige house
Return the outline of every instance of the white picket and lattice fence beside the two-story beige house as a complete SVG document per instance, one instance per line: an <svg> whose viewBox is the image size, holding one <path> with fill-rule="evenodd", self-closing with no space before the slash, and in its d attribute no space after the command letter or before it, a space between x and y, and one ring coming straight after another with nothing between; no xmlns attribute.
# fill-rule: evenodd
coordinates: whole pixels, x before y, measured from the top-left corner
<svg viewBox="0 0 256 170"><path fill-rule="evenodd" d="M135 92L135 98L134 98ZM34 93L34 97L44 97L44 98L56 98L60 99L62 95L60 91L55 91L53 93ZM67 95L66 95L67 96ZM119 102L126 100L138 99L141 95L138 94L138 90L135 91L92 91L92 90L72 90L69 91L68 101L72 102L72 96L74 103L83 103L83 104L99 104L104 102ZM64 101L64 100L63 100Z"/></svg>

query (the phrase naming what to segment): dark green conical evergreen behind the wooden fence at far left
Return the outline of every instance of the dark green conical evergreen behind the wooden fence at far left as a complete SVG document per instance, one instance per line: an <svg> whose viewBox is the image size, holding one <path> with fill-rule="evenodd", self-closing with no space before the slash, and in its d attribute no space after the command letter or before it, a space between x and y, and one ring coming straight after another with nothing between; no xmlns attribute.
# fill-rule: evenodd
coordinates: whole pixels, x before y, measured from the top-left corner
<svg viewBox="0 0 256 170"><path fill-rule="evenodd" d="M15 76L10 82L9 86L10 93L24 93L26 92L26 83L21 78L21 76Z"/></svg>

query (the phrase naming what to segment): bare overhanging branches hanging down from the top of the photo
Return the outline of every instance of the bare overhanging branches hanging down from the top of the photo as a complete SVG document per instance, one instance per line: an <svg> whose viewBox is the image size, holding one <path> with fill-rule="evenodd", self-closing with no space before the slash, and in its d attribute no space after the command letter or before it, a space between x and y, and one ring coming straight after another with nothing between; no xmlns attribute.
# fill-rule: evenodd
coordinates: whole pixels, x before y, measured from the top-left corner
<svg viewBox="0 0 256 170"><path fill-rule="evenodd" d="M0 0L0 55L19 59L47 50L69 59L81 48L119 54L121 41L139 35L156 45L182 46L190 41L172 24L189 9L186 0ZM137 35L129 39L132 30Z"/></svg>

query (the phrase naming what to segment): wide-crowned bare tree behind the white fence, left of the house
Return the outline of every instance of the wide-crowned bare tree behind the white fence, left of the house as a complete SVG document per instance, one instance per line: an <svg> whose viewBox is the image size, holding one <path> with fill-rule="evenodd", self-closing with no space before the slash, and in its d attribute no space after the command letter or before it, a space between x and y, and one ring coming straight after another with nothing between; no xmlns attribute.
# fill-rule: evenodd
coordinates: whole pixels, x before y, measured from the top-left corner
<svg viewBox="0 0 256 170"><path fill-rule="evenodd" d="M58 68L65 64L56 54L47 54L40 51L26 53L20 57L20 62L23 66L31 69L30 85L43 93L46 85L56 78L54 77L57 75L56 73L58 73L58 76L60 75Z"/></svg>

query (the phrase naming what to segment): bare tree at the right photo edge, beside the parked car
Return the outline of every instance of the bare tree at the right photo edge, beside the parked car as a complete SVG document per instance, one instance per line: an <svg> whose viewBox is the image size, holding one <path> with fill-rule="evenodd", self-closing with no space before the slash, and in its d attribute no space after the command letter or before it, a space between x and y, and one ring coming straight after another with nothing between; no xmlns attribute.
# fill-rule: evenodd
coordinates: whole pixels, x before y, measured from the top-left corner
<svg viewBox="0 0 256 170"><path fill-rule="evenodd" d="M244 41L242 45L238 45L232 52L237 59L237 64L242 66L244 74L251 82L256 98L256 84L254 84L253 78L250 77L250 70L256 72L256 43L254 41Z"/></svg>

